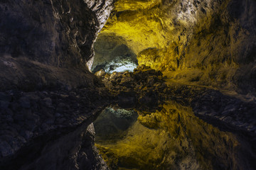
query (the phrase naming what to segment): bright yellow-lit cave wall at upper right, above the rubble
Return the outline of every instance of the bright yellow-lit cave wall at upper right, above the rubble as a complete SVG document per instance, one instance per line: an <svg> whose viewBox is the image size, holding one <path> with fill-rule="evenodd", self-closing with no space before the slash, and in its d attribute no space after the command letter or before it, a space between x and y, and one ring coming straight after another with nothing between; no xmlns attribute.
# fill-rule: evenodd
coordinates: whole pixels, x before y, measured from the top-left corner
<svg viewBox="0 0 256 170"><path fill-rule="evenodd" d="M214 28L228 1L218 7L183 1L120 0L102 29L102 35L124 38L139 64L166 72L172 81L234 89L230 81L238 69L226 54L225 30ZM184 6L187 6L186 10ZM215 8L216 15L208 12ZM218 24L216 24L218 26ZM222 44L220 44L222 43Z"/></svg>

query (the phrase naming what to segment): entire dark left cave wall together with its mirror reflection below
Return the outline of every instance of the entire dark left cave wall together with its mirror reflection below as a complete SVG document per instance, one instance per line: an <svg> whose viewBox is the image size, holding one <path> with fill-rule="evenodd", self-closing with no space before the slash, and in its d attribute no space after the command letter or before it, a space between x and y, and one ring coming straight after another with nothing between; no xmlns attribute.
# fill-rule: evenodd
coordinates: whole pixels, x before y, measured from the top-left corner
<svg viewBox="0 0 256 170"><path fill-rule="evenodd" d="M108 97L86 63L112 8L0 1L0 169L107 169L87 126Z"/></svg>

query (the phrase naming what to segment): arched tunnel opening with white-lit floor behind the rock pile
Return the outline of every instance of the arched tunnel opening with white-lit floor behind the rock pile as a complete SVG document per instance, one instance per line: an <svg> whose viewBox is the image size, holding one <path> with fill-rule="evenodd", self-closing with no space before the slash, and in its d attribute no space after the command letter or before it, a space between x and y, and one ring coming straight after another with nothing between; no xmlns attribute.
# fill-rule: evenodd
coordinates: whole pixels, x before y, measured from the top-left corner
<svg viewBox="0 0 256 170"><path fill-rule="evenodd" d="M137 55L128 47L121 36L114 33L101 33L94 44L95 58L92 72L103 69L107 73L132 72L137 67Z"/></svg>

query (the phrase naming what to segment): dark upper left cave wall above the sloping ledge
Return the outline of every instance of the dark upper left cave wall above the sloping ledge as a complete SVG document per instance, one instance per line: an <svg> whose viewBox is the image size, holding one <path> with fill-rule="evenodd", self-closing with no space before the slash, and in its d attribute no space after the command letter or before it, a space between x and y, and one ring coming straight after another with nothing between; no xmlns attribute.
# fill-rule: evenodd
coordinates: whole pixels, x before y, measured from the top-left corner
<svg viewBox="0 0 256 170"><path fill-rule="evenodd" d="M101 17L111 10L104 1L94 5L98 9L82 0L1 2L0 52L60 67L85 64L105 23ZM94 10L109 11L96 15Z"/></svg>

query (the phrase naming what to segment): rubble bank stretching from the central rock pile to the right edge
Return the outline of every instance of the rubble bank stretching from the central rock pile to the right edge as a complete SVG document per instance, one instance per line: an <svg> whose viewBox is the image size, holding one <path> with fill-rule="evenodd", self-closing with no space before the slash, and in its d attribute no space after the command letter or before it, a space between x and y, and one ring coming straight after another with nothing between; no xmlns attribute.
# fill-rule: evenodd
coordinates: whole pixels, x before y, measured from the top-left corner
<svg viewBox="0 0 256 170"><path fill-rule="evenodd" d="M155 111L171 100L191 106L196 115L223 130L256 132L255 101L245 102L201 86L165 82L161 72L144 65L134 72L106 74L102 81L123 108Z"/></svg>

